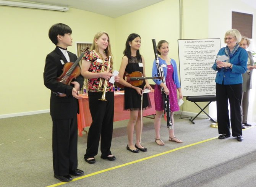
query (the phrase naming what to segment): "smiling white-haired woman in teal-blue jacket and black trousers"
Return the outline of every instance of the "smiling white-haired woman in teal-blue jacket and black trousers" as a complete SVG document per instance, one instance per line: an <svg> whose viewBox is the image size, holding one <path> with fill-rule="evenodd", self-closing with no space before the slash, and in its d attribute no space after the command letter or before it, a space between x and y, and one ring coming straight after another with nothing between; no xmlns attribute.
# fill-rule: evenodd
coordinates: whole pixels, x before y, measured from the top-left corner
<svg viewBox="0 0 256 187"><path fill-rule="evenodd" d="M241 34L237 29L226 32L224 41L227 44L219 50L217 56L225 55L228 60L215 60L212 69L216 75L216 103L219 139L230 137L230 122L232 136L238 141L243 141L241 125L241 98L242 98L242 74L246 72L248 55L245 49L239 47ZM228 111L230 103L230 121Z"/></svg>

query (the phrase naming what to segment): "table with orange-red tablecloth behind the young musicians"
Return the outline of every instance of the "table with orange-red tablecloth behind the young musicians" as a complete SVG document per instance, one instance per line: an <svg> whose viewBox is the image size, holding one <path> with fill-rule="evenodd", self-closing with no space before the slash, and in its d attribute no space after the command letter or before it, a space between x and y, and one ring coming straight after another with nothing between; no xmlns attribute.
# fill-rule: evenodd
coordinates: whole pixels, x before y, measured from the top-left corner
<svg viewBox="0 0 256 187"><path fill-rule="evenodd" d="M120 91L120 93L124 93L124 91ZM81 95L81 94L80 94ZM123 96L117 94L115 92L115 108L114 108L114 121L122 121L124 119L130 118L130 111L123 110ZM82 136L82 131L85 127L91 126L92 123L92 117L89 109L89 101L88 101L88 95L82 95L82 99L79 99L79 114L77 115L77 121L78 121L78 134L79 136ZM149 93L150 101L152 107L143 111L143 116L149 116L156 114L155 111L155 100L154 100L154 90L153 92ZM102 101L104 102L104 101Z"/></svg>

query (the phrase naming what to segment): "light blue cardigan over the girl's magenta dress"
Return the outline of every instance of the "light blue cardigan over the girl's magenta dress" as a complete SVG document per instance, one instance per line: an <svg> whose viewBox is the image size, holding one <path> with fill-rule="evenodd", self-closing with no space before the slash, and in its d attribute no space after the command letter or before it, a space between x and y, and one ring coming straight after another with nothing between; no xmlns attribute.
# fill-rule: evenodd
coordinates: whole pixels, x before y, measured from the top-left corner
<svg viewBox="0 0 256 187"><path fill-rule="evenodd" d="M165 64L167 67L167 64L165 62L165 60L162 60L161 58L159 58L159 65L161 66L162 64ZM180 88L180 81L179 81L179 77L178 77L178 70L177 70L177 64L175 62L175 60L171 59L171 64L173 66L173 81L176 85L176 88ZM166 75L167 75L167 68L163 67L163 71L164 71L164 77L166 79ZM157 67L156 67L156 60L154 60L153 62L153 68L152 68L152 77L158 77L159 75L157 74ZM160 85L162 83L161 79L153 79L153 81L157 84Z"/></svg>

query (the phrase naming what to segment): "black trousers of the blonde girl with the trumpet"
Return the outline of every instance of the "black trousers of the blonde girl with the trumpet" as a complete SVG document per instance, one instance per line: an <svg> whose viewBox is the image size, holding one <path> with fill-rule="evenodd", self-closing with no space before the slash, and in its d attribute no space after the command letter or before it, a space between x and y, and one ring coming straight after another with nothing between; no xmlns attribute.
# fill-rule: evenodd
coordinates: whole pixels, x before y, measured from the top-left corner
<svg viewBox="0 0 256 187"><path fill-rule="evenodd" d="M92 124L87 137L87 149L84 158L97 155L100 141L101 156L106 158L111 155L110 147L113 134L114 120L114 93L106 92L107 101L101 101L102 92L88 92L89 108ZM101 139L101 140L100 140Z"/></svg>

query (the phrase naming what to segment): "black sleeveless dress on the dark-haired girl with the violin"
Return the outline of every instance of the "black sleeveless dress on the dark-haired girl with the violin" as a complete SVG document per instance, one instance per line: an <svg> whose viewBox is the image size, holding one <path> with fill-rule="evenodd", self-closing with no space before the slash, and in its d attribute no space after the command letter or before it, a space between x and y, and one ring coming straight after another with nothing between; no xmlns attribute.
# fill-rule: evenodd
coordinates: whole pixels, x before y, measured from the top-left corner
<svg viewBox="0 0 256 187"><path fill-rule="evenodd" d="M131 59L128 58L128 64L125 68L127 73L132 73L134 71L140 71L143 73L143 67L139 67L139 63L142 63L142 60L138 60L136 56L131 56ZM143 85L140 85L141 89L143 89L145 85L145 81ZM125 96L124 96L124 110L141 110L141 95L137 93L137 91L130 87L125 87ZM148 93L143 94L143 110L151 108L151 102Z"/></svg>

